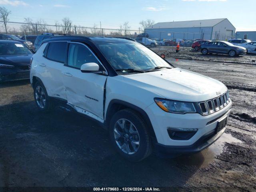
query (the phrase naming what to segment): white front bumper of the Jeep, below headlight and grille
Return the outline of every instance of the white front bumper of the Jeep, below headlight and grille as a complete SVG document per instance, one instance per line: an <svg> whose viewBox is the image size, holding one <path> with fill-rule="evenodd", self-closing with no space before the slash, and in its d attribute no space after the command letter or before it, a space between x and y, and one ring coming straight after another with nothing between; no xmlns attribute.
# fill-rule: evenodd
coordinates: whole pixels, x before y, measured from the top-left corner
<svg viewBox="0 0 256 192"><path fill-rule="evenodd" d="M191 148L195 146L198 148L198 141L205 136L211 135L216 130L220 119L224 116L228 117L230 115L231 106L232 101L230 101L221 110L208 116L202 116L197 113L168 113L160 109L155 103L148 106L145 111L154 128L156 135L156 148L159 146L166 146L170 149L177 148L177 150L179 150L179 148L190 148L188 151L193 151ZM197 129L198 131L188 140L174 140L170 138L168 128ZM222 130L220 132L222 132ZM200 151L202 149L204 149L204 147L201 146L194 150Z"/></svg>

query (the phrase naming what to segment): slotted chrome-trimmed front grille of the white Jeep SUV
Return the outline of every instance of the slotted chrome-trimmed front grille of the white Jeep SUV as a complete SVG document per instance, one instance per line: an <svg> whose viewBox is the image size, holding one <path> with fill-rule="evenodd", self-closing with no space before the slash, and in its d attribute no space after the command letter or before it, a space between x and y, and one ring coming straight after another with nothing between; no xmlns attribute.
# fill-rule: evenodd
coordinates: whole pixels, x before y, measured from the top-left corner
<svg viewBox="0 0 256 192"><path fill-rule="evenodd" d="M229 93L226 92L217 98L207 100L204 102L199 102L199 107L203 115L212 114L225 106L230 102Z"/></svg>

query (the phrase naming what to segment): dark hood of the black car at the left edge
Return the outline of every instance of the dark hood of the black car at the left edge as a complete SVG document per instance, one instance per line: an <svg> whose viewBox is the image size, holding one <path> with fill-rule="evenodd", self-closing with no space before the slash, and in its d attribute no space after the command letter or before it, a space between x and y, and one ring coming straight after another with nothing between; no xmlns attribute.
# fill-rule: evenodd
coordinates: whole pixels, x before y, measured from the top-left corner
<svg viewBox="0 0 256 192"><path fill-rule="evenodd" d="M30 58L33 54L26 55L0 55L0 64L27 66L30 65Z"/></svg>

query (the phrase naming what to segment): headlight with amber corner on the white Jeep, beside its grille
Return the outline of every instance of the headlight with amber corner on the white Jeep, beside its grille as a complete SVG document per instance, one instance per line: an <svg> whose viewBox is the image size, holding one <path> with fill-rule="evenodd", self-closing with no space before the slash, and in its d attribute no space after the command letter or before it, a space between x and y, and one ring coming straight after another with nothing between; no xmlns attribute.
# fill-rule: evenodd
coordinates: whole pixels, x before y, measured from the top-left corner
<svg viewBox="0 0 256 192"><path fill-rule="evenodd" d="M164 111L170 113L195 113L196 109L192 102L173 101L168 99L155 98L156 104Z"/></svg>

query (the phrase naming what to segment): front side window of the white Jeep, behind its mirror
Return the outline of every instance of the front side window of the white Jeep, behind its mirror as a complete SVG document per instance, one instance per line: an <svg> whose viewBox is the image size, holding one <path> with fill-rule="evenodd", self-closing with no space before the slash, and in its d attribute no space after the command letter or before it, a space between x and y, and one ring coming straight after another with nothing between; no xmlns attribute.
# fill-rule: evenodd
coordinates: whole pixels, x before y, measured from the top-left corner
<svg viewBox="0 0 256 192"><path fill-rule="evenodd" d="M86 46L74 43L70 44L68 48L68 66L80 69L82 64L92 62L100 64Z"/></svg>

